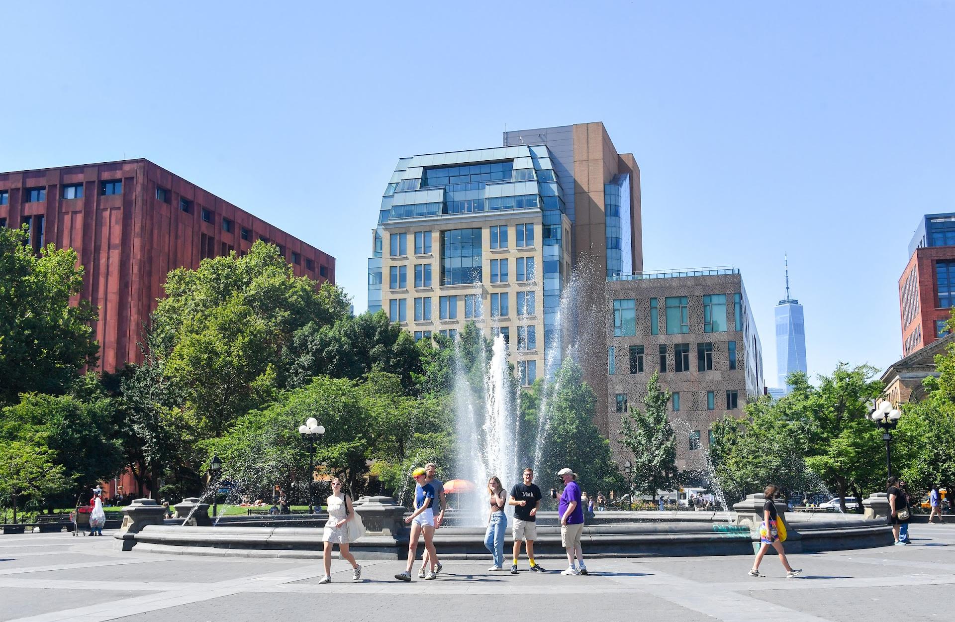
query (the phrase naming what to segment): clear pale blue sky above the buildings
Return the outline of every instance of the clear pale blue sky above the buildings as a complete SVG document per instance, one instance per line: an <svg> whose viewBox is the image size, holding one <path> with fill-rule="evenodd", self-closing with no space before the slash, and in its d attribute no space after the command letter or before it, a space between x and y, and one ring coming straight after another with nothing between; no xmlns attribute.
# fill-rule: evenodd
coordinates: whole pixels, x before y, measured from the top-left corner
<svg viewBox="0 0 955 622"><path fill-rule="evenodd" d="M902 352L920 215L955 211L955 4L8 3L0 170L147 158L337 258L366 306L402 156L602 120L647 269L742 269L774 384L783 253L811 374Z"/></svg>

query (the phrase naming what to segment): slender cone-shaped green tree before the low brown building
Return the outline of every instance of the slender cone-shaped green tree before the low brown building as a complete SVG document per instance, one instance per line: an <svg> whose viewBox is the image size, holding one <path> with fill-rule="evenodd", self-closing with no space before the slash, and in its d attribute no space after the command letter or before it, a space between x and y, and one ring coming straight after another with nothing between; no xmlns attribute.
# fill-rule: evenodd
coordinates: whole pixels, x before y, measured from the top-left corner
<svg viewBox="0 0 955 622"><path fill-rule="evenodd" d="M676 483L676 440L669 425L667 409L672 394L660 388L660 374L653 372L644 397L645 412L632 406L621 421L620 444L632 455L631 485L653 496Z"/></svg>

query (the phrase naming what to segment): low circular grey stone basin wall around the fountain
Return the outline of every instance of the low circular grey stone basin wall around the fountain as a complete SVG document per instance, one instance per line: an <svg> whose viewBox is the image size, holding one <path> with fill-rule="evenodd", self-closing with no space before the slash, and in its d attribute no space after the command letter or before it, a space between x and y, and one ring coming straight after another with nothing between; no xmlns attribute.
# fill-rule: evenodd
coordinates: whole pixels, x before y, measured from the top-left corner
<svg viewBox="0 0 955 622"><path fill-rule="evenodd" d="M556 513L541 513L535 556L562 558L561 530ZM601 512L595 523L584 526L584 554L594 557L657 557L696 555L752 555L759 546L758 533L748 525L734 525L734 512ZM609 516L608 516L609 515ZM686 515L686 516L685 516ZM708 517L708 518L704 518ZM629 520L626 520L629 519ZM729 520L728 520L729 519ZM859 515L786 515L790 537L787 552L813 552L848 548L881 547L892 543L886 519L868 520ZM317 524L316 524L317 526ZM145 525L137 533L117 534L127 549L165 554L224 557L318 558L322 555L322 529L314 526L180 526ZM388 532L369 532L351 544L359 559L405 559L409 529L396 537ZM512 545L510 528L504 550ZM446 526L435 533L435 546L442 559L486 559L484 528ZM418 554L423 547L418 547Z"/></svg>

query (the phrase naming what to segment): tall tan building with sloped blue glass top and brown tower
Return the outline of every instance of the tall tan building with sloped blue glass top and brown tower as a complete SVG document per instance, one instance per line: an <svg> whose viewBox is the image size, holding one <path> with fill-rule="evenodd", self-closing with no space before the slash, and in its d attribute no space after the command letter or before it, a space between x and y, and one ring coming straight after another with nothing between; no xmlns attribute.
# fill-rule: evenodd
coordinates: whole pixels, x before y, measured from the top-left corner
<svg viewBox="0 0 955 622"><path fill-rule="evenodd" d="M546 349L579 334L557 325L572 269L585 264L596 277L585 280L603 287L606 274L641 268L639 196L636 162L617 154L602 123L401 158L372 233L369 310L415 339L453 336L470 321L503 334L530 384L545 373Z"/></svg>

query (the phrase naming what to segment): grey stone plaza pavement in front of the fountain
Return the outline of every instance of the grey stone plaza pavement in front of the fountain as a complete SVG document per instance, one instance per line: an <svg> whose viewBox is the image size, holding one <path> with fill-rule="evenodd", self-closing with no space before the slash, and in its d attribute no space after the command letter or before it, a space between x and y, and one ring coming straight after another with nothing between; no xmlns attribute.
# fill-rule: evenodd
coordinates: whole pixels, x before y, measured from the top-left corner
<svg viewBox="0 0 955 622"><path fill-rule="evenodd" d="M915 544L793 555L746 574L752 558L592 559L589 576L489 572L490 561L448 560L436 581L394 581L397 562L365 561L361 582L332 561L120 552L112 537L0 535L0 620L546 619L812 622L942 620L952 616L955 525L913 525ZM107 534L111 535L111 534ZM440 551L438 551L440 552ZM417 566L415 566L415 569ZM425 595L426 598L421 596ZM494 596L494 598L488 598ZM423 611L423 612L422 612Z"/></svg>

